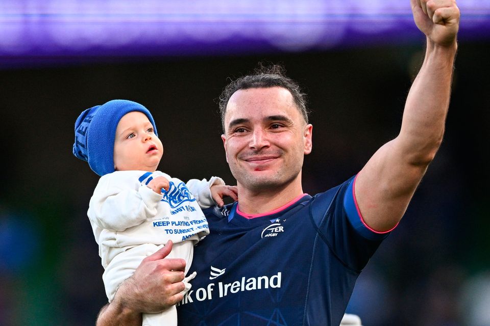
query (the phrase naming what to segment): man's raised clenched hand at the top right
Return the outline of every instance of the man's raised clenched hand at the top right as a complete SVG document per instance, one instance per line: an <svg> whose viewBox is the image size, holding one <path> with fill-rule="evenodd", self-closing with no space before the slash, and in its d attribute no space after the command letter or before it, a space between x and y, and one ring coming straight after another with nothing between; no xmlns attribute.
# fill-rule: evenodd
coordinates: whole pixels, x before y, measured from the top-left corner
<svg viewBox="0 0 490 326"><path fill-rule="evenodd" d="M459 28L455 0L410 0L415 24L435 45L453 46Z"/></svg>

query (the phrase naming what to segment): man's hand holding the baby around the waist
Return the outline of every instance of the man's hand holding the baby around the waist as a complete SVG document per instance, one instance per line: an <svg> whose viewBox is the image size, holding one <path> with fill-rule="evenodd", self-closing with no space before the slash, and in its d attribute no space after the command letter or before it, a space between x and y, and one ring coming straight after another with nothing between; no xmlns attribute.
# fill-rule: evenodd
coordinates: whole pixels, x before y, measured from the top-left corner
<svg viewBox="0 0 490 326"><path fill-rule="evenodd" d="M182 301L185 260L164 259L172 250L172 241L141 261L132 277L121 284L112 304L140 313L158 313Z"/></svg>

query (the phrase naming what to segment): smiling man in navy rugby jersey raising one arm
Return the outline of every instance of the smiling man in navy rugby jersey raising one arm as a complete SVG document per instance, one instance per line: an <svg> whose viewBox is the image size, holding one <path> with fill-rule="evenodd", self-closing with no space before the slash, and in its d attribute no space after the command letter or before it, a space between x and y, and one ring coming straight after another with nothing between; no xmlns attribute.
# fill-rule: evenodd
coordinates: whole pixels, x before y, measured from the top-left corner
<svg viewBox="0 0 490 326"><path fill-rule="evenodd" d="M140 325L141 314L179 304L183 325L338 325L355 280L402 218L442 142L457 49L452 0L411 0L427 36L400 134L357 176L303 194L312 148L301 91L281 71L232 82L220 103L222 139L239 202L205 212L210 235L195 248L198 272L185 296L184 262L147 257L116 292L98 325Z"/></svg>

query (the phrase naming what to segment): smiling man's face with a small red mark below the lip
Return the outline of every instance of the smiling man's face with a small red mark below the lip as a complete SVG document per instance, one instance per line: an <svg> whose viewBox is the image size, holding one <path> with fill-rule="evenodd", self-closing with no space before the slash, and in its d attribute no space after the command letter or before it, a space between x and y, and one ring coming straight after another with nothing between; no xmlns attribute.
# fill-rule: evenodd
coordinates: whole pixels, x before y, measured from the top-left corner
<svg viewBox="0 0 490 326"><path fill-rule="evenodd" d="M311 131L288 90L235 92L228 101L222 139L237 184L252 192L301 184L303 157L311 152Z"/></svg>

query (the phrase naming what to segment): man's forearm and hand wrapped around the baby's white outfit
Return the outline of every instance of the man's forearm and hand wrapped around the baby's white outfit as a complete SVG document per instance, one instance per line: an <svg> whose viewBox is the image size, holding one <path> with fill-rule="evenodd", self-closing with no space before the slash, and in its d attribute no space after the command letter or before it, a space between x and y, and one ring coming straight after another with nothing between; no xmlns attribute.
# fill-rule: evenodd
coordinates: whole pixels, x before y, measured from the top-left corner
<svg viewBox="0 0 490 326"><path fill-rule="evenodd" d="M183 259L164 259L172 250L162 249L143 259L132 277L117 289L114 299L102 308L97 326L141 326L142 313L158 313L182 301Z"/></svg>

